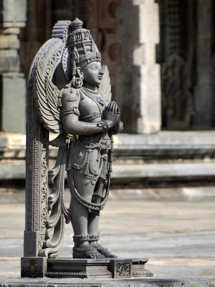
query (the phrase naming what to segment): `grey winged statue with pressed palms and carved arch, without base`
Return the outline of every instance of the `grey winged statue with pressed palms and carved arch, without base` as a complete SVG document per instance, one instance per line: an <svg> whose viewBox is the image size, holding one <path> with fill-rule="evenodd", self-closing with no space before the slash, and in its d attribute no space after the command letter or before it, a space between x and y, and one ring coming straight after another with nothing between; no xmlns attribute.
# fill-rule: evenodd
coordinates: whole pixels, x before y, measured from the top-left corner
<svg viewBox="0 0 215 287"><path fill-rule="evenodd" d="M65 218L74 231L73 258L116 257L98 243L98 224L109 193L112 135L123 124L111 101L107 66L101 66L98 48L82 25L77 18L58 21L30 69L24 256L56 257ZM52 82L58 64L68 82L61 90ZM59 134L50 142L49 131ZM48 171L49 144L58 147L58 155ZM65 170L71 192L68 209Z"/></svg>

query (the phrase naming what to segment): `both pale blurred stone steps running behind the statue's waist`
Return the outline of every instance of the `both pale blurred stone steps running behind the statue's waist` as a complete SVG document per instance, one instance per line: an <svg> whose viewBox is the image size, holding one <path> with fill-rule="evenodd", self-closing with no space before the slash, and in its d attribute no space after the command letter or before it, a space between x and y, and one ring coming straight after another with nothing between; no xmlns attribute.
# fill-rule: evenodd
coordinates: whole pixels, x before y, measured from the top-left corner
<svg viewBox="0 0 215 287"><path fill-rule="evenodd" d="M49 168L57 150L49 148ZM24 134L0 134L0 155L0 180L25 179ZM119 134L114 137L112 182L213 181L214 155L215 131Z"/></svg>

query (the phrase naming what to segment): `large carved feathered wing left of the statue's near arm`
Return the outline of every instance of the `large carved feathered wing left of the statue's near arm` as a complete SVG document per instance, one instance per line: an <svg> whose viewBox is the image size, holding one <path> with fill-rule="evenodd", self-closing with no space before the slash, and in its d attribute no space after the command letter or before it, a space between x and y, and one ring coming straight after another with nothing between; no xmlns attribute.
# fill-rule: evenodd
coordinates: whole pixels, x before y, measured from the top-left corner
<svg viewBox="0 0 215 287"><path fill-rule="evenodd" d="M37 114L43 126L52 133L62 133L58 97L60 91L40 69L33 69L33 97Z"/></svg>

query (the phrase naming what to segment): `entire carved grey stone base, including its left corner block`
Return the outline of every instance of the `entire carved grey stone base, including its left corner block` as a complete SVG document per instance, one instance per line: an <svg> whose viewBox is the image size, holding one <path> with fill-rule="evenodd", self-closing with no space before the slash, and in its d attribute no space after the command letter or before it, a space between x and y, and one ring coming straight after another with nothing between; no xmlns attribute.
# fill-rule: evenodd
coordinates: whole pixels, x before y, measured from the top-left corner
<svg viewBox="0 0 215 287"><path fill-rule="evenodd" d="M145 269L147 261L147 258L47 259L46 257L22 257L21 277L98 279L153 277L153 274ZM41 264L42 262L43 264Z"/></svg>

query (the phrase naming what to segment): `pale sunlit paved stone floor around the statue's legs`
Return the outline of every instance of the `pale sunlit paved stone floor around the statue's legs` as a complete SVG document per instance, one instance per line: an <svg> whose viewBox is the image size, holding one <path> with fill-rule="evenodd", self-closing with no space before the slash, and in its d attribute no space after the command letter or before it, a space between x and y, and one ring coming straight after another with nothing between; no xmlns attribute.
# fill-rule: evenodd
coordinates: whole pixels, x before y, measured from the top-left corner
<svg viewBox="0 0 215 287"><path fill-rule="evenodd" d="M180 200L171 190L167 194L149 200L144 190L133 198L129 191L111 192L101 212L101 243L119 257L148 257L146 268L155 277L215 279L214 198ZM68 191L65 195L68 203ZM20 276L24 212L23 191L0 191L0 277ZM59 256L69 257L72 246L68 224Z"/></svg>

